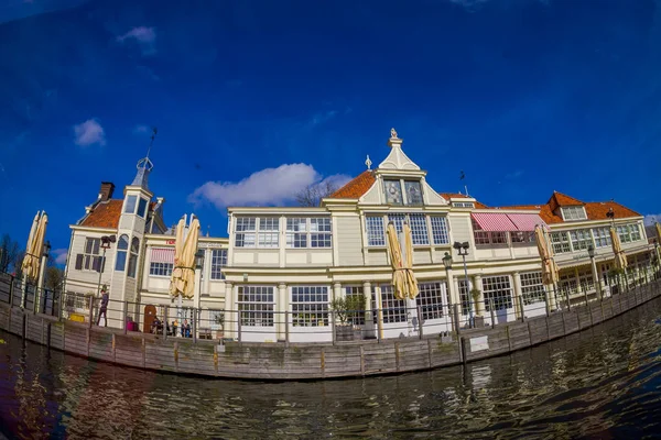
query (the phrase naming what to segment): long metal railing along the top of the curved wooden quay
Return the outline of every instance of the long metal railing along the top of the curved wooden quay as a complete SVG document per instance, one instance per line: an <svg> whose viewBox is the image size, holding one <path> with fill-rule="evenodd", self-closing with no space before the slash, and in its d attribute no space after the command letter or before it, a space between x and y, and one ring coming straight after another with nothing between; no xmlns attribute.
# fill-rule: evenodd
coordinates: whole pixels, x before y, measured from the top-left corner
<svg viewBox="0 0 661 440"><path fill-rule="evenodd" d="M543 288L516 296L512 288L481 293L470 299L470 309L451 304L443 293L436 304L410 300L408 307L344 310L327 305L321 309L260 310L191 308L176 305L129 302L71 292L37 289L9 274L0 274L0 302L85 326L100 326L127 332L151 333L159 338L231 340L240 342L343 343L358 340L449 337L474 328L525 321L555 311L572 310L590 301L633 293L661 279L658 268L641 267L593 279L588 288Z"/></svg>

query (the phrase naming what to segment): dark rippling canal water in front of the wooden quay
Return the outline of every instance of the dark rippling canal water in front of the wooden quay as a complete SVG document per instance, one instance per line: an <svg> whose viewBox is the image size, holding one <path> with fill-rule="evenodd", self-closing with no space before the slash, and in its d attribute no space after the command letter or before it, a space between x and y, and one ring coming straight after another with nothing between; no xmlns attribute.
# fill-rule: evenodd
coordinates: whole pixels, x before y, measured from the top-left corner
<svg viewBox="0 0 661 440"><path fill-rule="evenodd" d="M661 433L659 299L561 341L465 367L330 382L182 377L0 338L0 432L10 439Z"/></svg>

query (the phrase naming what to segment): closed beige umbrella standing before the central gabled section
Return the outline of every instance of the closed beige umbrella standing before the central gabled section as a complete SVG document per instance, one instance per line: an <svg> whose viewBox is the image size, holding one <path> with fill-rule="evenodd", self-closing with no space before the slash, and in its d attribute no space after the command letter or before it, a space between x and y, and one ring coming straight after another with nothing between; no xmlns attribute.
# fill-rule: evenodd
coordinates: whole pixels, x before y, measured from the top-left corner
<svg viewBox="0 0 661 440"><path fill-rule="evenodd" d="M388 224L388 254L392 264L392 287L394 297L398 299L415 298L418 296L418 280L413 275L413 240L411 237L411 228L404 223L404 246L407 261L402 258L402 249L397 237L397 230L393 223Z"/></svg>

